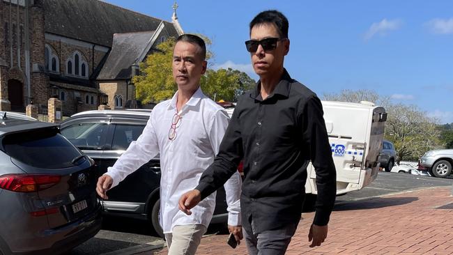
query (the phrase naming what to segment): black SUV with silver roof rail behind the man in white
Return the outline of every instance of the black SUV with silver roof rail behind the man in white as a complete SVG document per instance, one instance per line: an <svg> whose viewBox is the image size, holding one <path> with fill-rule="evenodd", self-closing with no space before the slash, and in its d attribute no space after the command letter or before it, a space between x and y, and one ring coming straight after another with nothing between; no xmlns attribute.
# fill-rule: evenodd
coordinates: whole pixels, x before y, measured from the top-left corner
<svg viewBox="0 0 453 255"><path fill-rule="evenodd" d="M61 134L89 155L101 176L143 132L151 110L84 111L61 123ZM131 173L107 193L102 201L106 214L145 219L163 237L159 223L160 160L155 157ZM211 223L227 222L224 189L217 190L217 203Z"/></svg>

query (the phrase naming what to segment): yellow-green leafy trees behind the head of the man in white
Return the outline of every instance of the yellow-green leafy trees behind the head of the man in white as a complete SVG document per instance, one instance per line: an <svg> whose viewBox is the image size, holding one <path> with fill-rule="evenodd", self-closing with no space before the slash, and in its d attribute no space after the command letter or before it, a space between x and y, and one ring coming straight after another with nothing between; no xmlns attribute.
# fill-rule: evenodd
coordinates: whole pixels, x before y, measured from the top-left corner
<svg viewBox="0 0 453 255"><path fill-rule="evenodd" d="M204 36L202 38L210 45L208 38ZM174 45L174 38L162 42L158 45L158 50L140 64L141 74L132 80L136 87L137 100L141 100L142 103L158 103L174 95L178 89L171 68ZM213 53L208 50L206 59L210 56L213 56ZM231 68L208 69L200 81L201 89L210 98L233 102L237 100L238 95L242 95L254 84L254 80L245 72Z"/></svg>

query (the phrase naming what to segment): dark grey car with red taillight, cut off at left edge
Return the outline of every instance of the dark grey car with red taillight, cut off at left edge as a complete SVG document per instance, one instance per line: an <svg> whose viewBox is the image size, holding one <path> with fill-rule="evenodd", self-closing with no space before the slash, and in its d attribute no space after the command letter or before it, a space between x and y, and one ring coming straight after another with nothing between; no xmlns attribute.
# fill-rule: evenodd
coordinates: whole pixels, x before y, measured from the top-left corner
<svg viewBox="0 0 453 255"><path fill-rule="evenodd" d="M0 112L0 254L61 254L101 227L93 161L58 125Z"/></svg>

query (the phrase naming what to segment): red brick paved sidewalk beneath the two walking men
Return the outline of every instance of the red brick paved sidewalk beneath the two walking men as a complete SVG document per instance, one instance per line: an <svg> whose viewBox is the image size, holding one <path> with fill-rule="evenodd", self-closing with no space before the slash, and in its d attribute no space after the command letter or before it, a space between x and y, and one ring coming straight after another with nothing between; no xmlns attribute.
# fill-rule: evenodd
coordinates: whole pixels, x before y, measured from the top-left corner
<svg viewBox="0 0 453 255"><path fill-rule="evenodd" d="M286 254L453 254L451 191L437 187L337 205L328 239L316 248L307 240L314 213L304 213ZM247 254L244 244L231 249L226 240L203 238L197 254Z"/></svg>

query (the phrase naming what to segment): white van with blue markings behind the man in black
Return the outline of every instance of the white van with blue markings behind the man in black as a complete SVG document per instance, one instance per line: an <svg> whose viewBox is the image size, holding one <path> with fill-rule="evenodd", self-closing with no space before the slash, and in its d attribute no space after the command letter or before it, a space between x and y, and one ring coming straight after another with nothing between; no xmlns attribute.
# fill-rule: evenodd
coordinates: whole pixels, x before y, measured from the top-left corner
<svg viewBox="0 0 453 255"><path fill-rule="evenodd" d="M387 113L371 102L321 102L337 169L337 195L361 190L378 176ZM307 174L305 192L316 194L312 164L307 167Z"/></svg>

